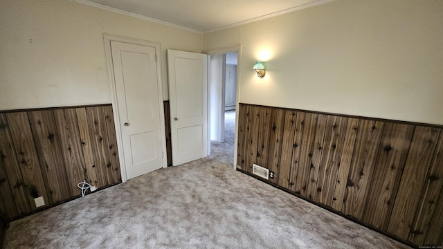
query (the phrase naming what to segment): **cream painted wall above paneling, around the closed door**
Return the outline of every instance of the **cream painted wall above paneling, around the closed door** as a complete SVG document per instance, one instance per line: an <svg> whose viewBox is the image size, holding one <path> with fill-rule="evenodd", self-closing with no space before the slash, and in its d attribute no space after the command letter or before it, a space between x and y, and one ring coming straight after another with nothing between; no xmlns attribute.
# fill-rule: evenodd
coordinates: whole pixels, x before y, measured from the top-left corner
<svg viewBox="0 0 443 249"><path fill-rule="evenodd" d="M103 33L161 44L165 99L165 50L203 46L199 33L73 1L2 1L0 109L110 103Z"/></svg>

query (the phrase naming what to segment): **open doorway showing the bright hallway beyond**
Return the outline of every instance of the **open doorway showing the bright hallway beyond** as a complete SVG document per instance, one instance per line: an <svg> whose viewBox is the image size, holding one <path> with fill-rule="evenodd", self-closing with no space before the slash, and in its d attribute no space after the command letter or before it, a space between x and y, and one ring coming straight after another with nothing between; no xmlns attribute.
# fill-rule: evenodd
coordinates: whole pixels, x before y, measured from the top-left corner
<svg viewBox="0 0 443 249"><path fill-rule="evenodd" d="M235 163L237 54L221 53L208 59L211 155L230 165Z"/></svg>

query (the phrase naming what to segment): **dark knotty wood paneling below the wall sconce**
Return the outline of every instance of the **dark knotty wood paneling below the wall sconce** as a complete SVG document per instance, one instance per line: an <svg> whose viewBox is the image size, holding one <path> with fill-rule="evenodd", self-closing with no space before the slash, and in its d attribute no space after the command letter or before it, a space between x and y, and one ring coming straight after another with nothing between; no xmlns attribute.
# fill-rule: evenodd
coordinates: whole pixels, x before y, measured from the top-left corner
<svg viewBox="0 0 443 249"><path fill-rule="evenodd" d="M237 168L418 246L443 246L442 127L239 104Z"/></svg>

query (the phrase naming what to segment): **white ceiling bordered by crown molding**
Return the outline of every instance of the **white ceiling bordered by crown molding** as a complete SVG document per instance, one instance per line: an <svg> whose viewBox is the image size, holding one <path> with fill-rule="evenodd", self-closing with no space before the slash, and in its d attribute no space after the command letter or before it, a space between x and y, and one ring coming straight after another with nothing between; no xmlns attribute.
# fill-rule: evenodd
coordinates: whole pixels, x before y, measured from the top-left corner
<svg viewBox="0 0 443 249"><path fill-rule="evenodd" d="M73 0L208 33L333 0Z"/></svg>

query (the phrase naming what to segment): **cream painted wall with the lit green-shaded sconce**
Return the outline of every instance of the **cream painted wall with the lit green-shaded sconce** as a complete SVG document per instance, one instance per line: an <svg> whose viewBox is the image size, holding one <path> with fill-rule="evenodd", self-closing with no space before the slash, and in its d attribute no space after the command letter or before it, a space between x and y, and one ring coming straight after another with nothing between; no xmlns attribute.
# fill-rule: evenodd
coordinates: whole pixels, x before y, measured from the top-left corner
<svg viewBox="0 0 443 249"><path fill-rule="evenodd" d="M205 34L204 50L242 45L240 102L443 124L442 13L439 0L336 0Z"/></svg>

